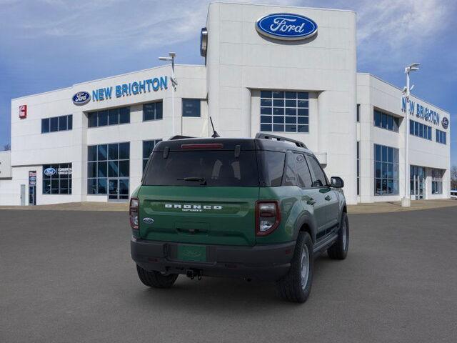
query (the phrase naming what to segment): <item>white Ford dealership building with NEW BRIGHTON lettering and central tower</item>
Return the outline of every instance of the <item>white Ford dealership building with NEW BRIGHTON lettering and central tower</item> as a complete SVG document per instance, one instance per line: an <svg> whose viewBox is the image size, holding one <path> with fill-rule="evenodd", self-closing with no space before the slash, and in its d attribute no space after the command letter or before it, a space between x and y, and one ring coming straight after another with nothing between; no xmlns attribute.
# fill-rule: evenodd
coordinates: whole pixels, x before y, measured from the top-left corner
<svg viewBox="0 0 457 343"><path fill-rule="evenodd" d="M125 202L154 144L211 136L210 115L303 141L349 204L450 196L450 114L357 72L355 12L213 3L202 26L176 89L164 65L12 99L0 205Z"/></svg>

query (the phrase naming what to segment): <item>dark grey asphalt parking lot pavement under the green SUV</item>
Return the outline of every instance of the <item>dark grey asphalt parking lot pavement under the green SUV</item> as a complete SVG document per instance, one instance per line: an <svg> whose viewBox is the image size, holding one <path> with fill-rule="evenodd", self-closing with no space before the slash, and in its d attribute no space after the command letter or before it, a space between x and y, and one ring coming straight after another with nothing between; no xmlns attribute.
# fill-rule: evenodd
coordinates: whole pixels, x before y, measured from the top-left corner
<svg viewBox="0 0 457 343"><path fill-rule="evenodd" d="M349 221L298 305L236 279L144 287L124 212L0 211L0 342L456 342L456 207Z"/></svg>

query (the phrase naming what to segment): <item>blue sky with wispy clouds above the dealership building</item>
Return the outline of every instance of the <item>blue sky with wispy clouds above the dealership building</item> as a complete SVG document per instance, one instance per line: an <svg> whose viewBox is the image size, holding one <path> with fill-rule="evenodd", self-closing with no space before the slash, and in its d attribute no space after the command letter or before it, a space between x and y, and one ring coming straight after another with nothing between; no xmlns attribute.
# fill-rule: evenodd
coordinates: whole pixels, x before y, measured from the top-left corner
<svg viewBox="0 0 457 343"><path fill-rule="evenodd" d="M168 51L176 63L204 64L199 39L209 2L0 0L0 150L10 141L13 98L158 66ZM356 11L358 71L401 87L404 66L420 62L413 94L457 125L457 1L231 2ZM457 164L457 134L450 140Z"/></svg>

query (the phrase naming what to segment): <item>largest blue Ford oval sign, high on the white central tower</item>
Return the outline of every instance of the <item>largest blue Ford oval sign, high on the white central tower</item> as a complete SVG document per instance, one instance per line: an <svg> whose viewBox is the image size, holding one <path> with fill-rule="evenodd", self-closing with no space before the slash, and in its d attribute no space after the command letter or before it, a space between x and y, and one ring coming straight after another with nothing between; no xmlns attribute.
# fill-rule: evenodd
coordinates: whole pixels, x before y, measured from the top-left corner
<svg viewBox="0 0 457 343"><path fill-rule="evenodd" d="M274 39L295 41L317 33L317 24L306 16L290 13L275 13L262 16L256 22L259 34Z"/></svg>

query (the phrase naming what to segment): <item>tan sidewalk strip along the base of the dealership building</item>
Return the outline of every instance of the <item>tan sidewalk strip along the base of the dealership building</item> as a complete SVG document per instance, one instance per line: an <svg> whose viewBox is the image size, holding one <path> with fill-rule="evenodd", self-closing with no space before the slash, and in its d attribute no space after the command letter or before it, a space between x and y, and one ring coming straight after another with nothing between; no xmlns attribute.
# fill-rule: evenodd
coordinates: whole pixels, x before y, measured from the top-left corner
<svg viewBox="0 0 457 343"><path fill-rule="evenodd" d="M411 207L401 207L400 202L373 202L369 204L348 205L349 214L403 212L420 209L437 209L439 207L457 207L456 199L442 200L416 200L411 202ZM128 211L127 202L69 202L67 204L38 205L38 206L0 206L0 209L22 209L49 211ZM457 208L456 208L457 214Z"/></svg>

